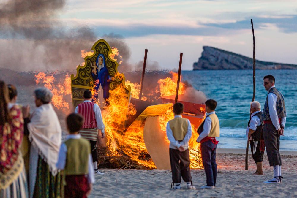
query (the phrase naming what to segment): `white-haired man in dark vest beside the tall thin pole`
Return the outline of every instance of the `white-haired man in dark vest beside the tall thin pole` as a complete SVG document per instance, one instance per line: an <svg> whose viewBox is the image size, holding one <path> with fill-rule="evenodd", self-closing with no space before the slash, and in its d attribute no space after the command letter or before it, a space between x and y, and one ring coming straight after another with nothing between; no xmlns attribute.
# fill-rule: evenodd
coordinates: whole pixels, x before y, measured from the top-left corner
<svg viewBox="0 0 297 198"><path fill-rule="evenodd" d="M262 134L262 111L261 104L257 101L251 102L250 106L251 117L247 123L247 137L250 140L253 159L257 165L257 170L254 175L264 175L262 169L263 154L265 145ZM262 140L262 141L261 141Z"/></svg>

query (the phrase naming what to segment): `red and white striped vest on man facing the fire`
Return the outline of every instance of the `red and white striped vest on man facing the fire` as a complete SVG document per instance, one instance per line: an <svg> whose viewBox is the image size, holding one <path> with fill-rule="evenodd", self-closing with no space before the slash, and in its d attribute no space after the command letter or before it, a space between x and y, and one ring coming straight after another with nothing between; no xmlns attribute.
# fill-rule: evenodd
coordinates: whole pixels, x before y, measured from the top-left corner
<svg viewBox="0 0 297 198"><path fill-rule="evenodd" d="M94 104L94 102L82 102L78 104L78 113L82 115L85 120L83 129L97 128Z"/></svg>

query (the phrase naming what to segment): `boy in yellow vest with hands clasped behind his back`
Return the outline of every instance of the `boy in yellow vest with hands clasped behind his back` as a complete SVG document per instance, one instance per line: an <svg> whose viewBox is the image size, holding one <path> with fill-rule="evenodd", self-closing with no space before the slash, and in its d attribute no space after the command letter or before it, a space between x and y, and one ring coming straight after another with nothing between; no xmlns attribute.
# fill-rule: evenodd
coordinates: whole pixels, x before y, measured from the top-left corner
<svg viewBox="0 0 297 198"><path fill-rule="evenodd" d="M187 183L186 189L196 189L192 184L188 142L192 136L191 123L182 118L184 105L177 102L173 105L174 119L167 123L166 133L170 141L169 155L172 171L171 189L181 189L181 177Z"/></svg>

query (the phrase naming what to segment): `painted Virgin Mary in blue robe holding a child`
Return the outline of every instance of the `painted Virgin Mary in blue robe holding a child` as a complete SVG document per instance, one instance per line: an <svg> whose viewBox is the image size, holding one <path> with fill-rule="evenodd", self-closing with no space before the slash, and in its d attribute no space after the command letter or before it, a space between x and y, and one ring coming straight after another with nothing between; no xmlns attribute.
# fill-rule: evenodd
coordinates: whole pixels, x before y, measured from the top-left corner
<svg viewBox="0 0 297 198"><path fill-rule="evenodd" d="M95 94L95 98L99 99L99 107L104 107L105 104L108 104L106 99L109 97L109 79L108 69L105 65L105 57L103 54L99 54L97 61L92 64L92 77L94 84L97 86L95 90L98 91L98 94Z"/></svg>

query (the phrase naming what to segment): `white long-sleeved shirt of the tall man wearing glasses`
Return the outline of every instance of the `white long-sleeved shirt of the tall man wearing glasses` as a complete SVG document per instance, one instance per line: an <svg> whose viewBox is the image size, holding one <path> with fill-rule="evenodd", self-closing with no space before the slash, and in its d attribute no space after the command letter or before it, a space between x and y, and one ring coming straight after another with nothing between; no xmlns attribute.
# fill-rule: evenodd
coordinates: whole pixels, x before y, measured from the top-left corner
<svg viewBox="0 0 297 198"><path fill-rule="evenodd" d="M275 86L272 86L270 89L272 89ZM268 89L268 92L270 91ZM271 122L273 126L275 126L275 130L278 130L280 128L278 117L277 117L277 95L273 93L268 94L268 109L269 109L269 116L271 119ZM286 117L281 118L281 124L283 127L285 127L286 124Z"/></svg>

